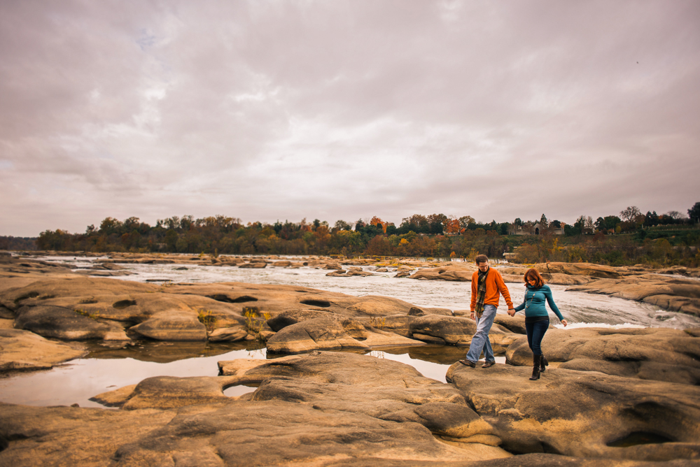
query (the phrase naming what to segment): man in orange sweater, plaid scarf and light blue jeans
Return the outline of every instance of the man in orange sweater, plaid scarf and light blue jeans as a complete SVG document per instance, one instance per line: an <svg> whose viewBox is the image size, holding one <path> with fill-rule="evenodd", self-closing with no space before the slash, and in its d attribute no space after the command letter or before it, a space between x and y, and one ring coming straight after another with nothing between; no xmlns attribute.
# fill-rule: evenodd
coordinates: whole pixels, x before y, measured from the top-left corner
<svg viewBox="0 0 700 467"><path fill-rule="evenodd" d="M472 337L466 359L460 360L459 363L476 368L477 361L481 358L483 351L486 363L482 368L489 368L496 364L489 340L489 331L491 331L493 319L496 318L499 294L503 295L508 312L515 312L515 310L503 277L496 269L489 267L489 258L485 254L479 254L475 260L479 271L472 274L472 304L470 308L472 312L470 317L476 319L477 331Z"/></svg>

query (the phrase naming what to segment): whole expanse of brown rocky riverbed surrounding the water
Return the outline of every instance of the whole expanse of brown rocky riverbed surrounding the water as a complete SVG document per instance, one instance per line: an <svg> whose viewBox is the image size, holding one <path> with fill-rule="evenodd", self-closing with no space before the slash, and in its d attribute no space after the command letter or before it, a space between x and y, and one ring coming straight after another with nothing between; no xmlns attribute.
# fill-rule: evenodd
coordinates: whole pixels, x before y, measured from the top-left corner
<svg viewBox="0 0 700 467"><path fill-rule="evenodd" d="M458 263L137 255L76 271L0 257L6 378L80 357L88 343L118 350L145 340L256 342L268 357L218 361L218 376L152 375L93 395L117 409L2 403L0 465L700 465L700 328L550 329L542 346L551 363L531 382L524 319L498 315L491 342L506 363L454 364L441 382L366 353L435 344L464 351L475 331L464 310L298 285L133 282L127 265L137 261L313 266L342 270L330 276L350 277L342 280L384 273L372 268L450 282L473 271ZM550 283L597 287L585 292L682 297L668 306L690 314L700 299L694 271L536 267ZM518 282L524 269L502 272ZM645 292L626 296L625 287ZM256 389L227 395L244 385Z"/></svg>

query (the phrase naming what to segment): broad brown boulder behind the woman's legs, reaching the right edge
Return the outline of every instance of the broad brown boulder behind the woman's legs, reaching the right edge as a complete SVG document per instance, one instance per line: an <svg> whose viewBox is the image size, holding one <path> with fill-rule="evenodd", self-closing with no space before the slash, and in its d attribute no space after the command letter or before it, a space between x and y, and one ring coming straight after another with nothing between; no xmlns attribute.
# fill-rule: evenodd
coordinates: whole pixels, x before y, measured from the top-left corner
<svg viewBox="0 0 700 467"><path fill-rule="evenodd" d="M549 329L542 352L559 368L700 385L700 338L679 329ZM527 338L514 340L506 357L531 366Z"/></svg>

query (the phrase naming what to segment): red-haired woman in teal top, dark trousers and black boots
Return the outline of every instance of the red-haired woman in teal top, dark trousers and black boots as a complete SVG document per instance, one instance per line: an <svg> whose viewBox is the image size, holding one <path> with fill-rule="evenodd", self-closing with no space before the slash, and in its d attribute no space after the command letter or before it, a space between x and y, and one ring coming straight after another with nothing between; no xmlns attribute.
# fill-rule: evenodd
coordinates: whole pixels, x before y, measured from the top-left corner
<svg viewBox="0 0 700 467"><path fill-rule="evenodd" d="M561 324L566 326L568 322L561 316L559 308L556 308L552 298L552 290L549 289L548 285L545 285L545 280L535 269L530 268L525 273L525 287L527 289L525 300L508 314L515 316L516 312L525 310L527 343L532 350L532 376L530 379L534 381L540 379L540 372L545 371L545 367L549 365L545 356L542 355L540 347L542 338L545 337L545 332L549 328L549 315L547 308L545 308L545 300L549 303L549 308L552 308L552 311L559 317Z"/></svg>

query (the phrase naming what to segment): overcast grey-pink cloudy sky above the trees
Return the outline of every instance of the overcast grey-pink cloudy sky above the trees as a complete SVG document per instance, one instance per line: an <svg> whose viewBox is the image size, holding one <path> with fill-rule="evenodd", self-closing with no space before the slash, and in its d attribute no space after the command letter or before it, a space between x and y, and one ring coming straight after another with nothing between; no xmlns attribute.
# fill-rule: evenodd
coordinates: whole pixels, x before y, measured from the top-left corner
<svg viewBox="0 0 700 467"><path fill-rule="evenodd" d="M700 2L2 1L0 235L682 213Z"/></svg>

